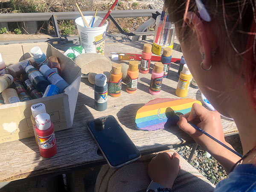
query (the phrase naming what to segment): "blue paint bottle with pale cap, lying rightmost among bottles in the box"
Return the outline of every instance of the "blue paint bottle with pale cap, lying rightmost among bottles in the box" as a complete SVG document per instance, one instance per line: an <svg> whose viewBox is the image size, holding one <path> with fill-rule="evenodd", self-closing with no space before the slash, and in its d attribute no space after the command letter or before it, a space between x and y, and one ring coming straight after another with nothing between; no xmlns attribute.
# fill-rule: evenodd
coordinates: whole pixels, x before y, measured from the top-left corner
<svg viewBox="0 0 256 192"><path fill-rule="evenodd" d="M46 78L50 84L56 85L60 93L63 93L64 89L69 86L69 84L56 73L52 69L50 69L47 65L42 65L39 69L41 73L43 73L44 78Z"/></svg>

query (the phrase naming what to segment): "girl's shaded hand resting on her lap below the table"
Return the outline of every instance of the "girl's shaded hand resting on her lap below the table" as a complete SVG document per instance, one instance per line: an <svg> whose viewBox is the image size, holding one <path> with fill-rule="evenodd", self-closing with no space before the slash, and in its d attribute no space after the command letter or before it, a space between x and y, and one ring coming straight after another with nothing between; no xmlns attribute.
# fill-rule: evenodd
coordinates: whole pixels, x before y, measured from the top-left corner
<svg viewBox="0 0 256 192"><path fill-rule="evenodd" d="M179 172L180 155L175 152L157 154L148 164L148 175L155 183L172 189Z"/></svg>

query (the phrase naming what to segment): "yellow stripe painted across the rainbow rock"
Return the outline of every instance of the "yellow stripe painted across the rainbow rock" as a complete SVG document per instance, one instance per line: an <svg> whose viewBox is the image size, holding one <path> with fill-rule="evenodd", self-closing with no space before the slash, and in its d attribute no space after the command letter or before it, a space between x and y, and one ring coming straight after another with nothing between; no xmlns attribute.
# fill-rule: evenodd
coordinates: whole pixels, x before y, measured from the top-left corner
<svg viewBox="0 0 256 192"><path fill-rule="evenodd" d="M186 104L182 104L182 105L172 106L172 109L174 111L178 111L178 110L191 108L193 103L198 103L198 104L202 105L202 103L200 101L195 101L195 102L190 102L190 103L186 103ZM169 108L169 107L166 107L166 108ZM160 108L161 109L160 113L163 113L163 111L165 112L166 108ZM158 111L158 109L151 110L151 111L145 111L145 112L142 112L142 113L137 113L135 119L139 119L139 118L143 118L143 117L151 116L151 115L157 115L157 111Z"/></svg>

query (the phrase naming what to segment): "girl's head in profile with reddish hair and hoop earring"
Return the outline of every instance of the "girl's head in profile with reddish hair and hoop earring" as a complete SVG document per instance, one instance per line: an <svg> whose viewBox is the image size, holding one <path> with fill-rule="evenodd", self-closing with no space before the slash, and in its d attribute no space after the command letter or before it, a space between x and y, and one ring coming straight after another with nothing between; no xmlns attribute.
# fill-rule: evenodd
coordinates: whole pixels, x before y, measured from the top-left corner
<svg viewBox="0 0 256 192"><path fill-rule="evenodd" d="M189 70L212 105L232 116L236 99L250 98L256 109L254 0L166 3Z"/></svg>

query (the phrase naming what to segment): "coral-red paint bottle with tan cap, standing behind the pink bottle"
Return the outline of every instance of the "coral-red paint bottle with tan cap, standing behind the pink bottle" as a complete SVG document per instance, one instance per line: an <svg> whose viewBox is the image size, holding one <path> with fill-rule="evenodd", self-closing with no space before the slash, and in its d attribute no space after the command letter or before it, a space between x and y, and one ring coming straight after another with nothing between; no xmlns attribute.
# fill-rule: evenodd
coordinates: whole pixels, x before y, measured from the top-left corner
<svg viewBox="0 0 256 192"><path fill-rule="evenodd" d="M144 44L140 62L140 73L148 73L152 57L152 45Z"/></svg>

